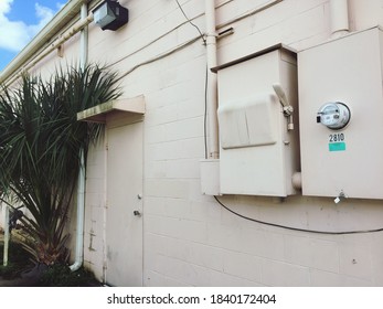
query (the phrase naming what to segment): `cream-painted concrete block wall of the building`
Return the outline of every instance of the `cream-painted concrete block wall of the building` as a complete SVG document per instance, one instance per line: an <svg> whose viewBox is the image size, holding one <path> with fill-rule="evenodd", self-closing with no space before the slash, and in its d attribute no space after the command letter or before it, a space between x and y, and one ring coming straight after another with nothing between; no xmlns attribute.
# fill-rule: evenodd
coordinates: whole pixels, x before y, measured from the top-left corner
<svg viewBox="0 0 383 309"><path fill-rule="evenodd" d="M262 225L201 194L205 46L175 1L119 2L130 10L129 23L117 32L91 24L89 61L126 74L125 97L146 97L143 285L382 286L383 233L322 235ZM203 2L180 0L202 32ZM349 2L352 31L383 24L381 1ZM279 42L299 51L330 38L328 0L217 0L216 7L219 31L234 28L234 34L219 40L219 64ZM85 264L100 279L105 196L100 142L88 158L84 246ZM285 200L241 195L220 200L245 216L298 228L383 227L381 201L345 200L336 205L333 199L299 194Z"/></svg>

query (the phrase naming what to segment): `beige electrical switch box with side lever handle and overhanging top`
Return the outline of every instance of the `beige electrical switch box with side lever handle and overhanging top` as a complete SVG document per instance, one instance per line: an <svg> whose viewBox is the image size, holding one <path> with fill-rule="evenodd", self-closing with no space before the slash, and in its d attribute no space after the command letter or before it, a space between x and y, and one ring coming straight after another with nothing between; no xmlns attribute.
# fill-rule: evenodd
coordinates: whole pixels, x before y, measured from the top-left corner
<svg viewBox="0 0 383 309"><path fill-rule="evenodd" d="M299 171L296 53L283 44L214 68L220 193L287 196Z"/></svg>

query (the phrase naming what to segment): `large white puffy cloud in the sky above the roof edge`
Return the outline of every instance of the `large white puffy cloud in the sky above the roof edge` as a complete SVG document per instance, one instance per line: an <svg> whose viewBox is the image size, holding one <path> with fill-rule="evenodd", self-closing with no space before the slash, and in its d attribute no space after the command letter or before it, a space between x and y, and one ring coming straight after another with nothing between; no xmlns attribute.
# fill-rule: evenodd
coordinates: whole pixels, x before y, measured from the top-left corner
<svg viewBox="0 0 383 309"><path fill-rule="evenodd" d="M46 7L35 3L35 24L23 21L11 21L7 13L12 9L13 0L0 0L0 49L19 52L28 42L54 17L55 12Z"/></svg>

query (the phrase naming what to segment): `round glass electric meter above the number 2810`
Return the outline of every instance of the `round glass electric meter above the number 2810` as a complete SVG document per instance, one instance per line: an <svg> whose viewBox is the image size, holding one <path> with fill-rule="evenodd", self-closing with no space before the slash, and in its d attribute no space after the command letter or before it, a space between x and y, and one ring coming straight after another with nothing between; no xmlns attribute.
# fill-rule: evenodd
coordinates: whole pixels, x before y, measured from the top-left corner
<svg viewBox="0 0 383 309"><path fill-rule="evenodd" d="M317 122L329 129L342 129L350 121L350 108L341 102L325 104L317 114Z"/></svg>

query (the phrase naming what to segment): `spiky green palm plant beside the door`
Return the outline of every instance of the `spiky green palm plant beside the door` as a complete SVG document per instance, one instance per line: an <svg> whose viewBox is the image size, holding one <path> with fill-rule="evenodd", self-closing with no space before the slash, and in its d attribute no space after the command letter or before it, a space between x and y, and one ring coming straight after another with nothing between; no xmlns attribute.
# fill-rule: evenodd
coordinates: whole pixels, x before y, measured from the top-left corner
<svg viewBox="0 0 383 309"><path fill-rule="evenodd" d="M81 169L81 152L102 126L76 114L120 95L117 76L98 66L57 70L49 81L25 75L0 90L0 199L31 214L21 220L38 263L68 257L65 223ZM12 199L11 199L12 196Z"/></svg>

